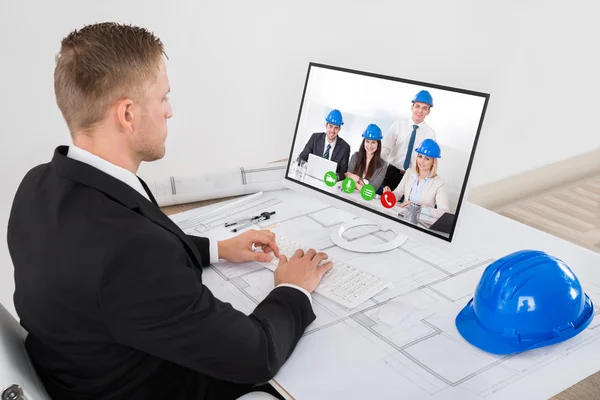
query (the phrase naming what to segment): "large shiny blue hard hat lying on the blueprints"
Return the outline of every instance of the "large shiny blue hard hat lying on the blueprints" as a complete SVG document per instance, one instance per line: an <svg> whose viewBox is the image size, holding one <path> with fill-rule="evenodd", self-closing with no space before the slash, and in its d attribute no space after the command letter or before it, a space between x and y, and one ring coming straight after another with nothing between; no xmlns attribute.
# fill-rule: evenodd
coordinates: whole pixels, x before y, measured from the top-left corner
<svg viewBox="0 0 600 400"><path fill-rule="evenodd" d="M564 262L542 251L522 250L485 269L455 322L472 345L512 354L570 339L593 317L592 301Z"/></svg>

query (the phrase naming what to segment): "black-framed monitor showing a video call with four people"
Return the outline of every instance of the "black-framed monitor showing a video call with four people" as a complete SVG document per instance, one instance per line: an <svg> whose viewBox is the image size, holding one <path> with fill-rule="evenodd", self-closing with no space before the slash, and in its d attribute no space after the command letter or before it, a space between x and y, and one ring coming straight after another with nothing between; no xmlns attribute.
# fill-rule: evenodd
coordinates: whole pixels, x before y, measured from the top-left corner
<svg viewBox="0 0 600 400"><path fill-rule="evenodd" d="M286 179L450 241L488 100L311 63Z"/></svg>

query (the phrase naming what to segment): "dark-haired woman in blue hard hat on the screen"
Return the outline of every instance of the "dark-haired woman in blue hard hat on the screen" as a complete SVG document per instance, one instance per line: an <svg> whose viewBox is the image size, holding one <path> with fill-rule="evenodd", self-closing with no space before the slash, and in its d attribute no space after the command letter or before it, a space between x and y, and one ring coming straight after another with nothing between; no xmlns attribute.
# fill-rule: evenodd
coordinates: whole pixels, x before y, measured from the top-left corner
<svg viewBox="0 0 600 400"><path fill-rule="evenodd" d="M387 163L381 159L381 139L383 139L381 128L369 124L362 137L359 150L350 158L346 177L352 178L359 190L366 184L370 184L377 190L387 171Z"/></svg>

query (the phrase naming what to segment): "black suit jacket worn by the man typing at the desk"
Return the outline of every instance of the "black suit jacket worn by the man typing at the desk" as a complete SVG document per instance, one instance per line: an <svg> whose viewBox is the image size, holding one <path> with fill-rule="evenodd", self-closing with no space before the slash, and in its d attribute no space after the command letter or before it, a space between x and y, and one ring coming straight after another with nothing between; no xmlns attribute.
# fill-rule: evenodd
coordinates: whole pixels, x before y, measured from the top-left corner
<svg viewBox="0 0 600 400"><path fill-rule="evenodd" d="M212 382L271 379L315 319L306 295L276 288L249 316L219 301L202 283L207 239L67 150L27 173L8 225L15 307L50 395L198 400Z"/></svg>

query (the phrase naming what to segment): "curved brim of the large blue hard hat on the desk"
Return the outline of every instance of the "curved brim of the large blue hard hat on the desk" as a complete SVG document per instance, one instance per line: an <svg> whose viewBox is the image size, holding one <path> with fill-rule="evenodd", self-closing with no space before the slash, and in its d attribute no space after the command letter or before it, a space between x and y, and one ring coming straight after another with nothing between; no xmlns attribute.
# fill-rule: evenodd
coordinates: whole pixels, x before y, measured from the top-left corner
<svg viewBox="0 0 600 400"><path fill-rule="evenodd" d="M456 316L455 325L462 337L473 346L488 353L508 355L564 342L581 333L594 318L594 306L587 295L585 295L582 317L578 326L575 326L573 330L563 332L556 338L550 340L510 342L502 338L497 332L491 332L481 326L473 309L473 299L471 299Z"/></svg>

